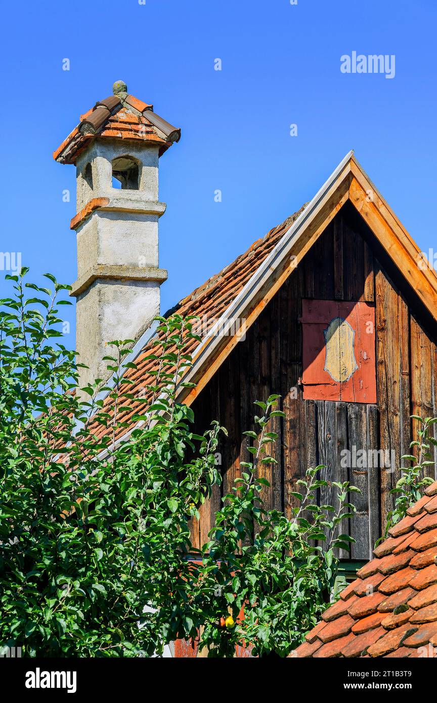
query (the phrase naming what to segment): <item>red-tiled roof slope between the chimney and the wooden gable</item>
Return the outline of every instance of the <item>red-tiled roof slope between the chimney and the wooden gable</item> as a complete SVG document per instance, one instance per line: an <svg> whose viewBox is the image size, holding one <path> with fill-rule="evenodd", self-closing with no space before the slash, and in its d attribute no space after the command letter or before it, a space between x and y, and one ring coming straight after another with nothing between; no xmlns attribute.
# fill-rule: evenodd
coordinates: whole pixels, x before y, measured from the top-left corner
<svg viewBox="0 0 437 703"><path fill-rule="evenodd" d="M297 217L299 217L304 207L306 206L304 205L298 212L295 212L291 217L288 217L282 222L282 224L270 230L262 239L256 240L256 242L249 247L247 252L237 257L231 264L228 264L223 271L211 276L206 283L183 298L166 315L173 312L177 312L183 317L195 315L200 318L202 323L202 334L206 334L214 323L223 316L228 306L233 302L235 297L237 297L242 288L244 288L249 278L252 277L273 247L278 244L282 236L284 236L289 227ZM150 354L159 356L159 347L153 344L155 339L156 337L150 340L141 354L135 359L137 368L126 369L126 373L124 374L124 378L133 381L133 384L129 386L125 385L121 392L126 392L127 388L129 394L132 394L134 397L129 400L129 410L123 410L118 415L118 419L125 425L124 429L119 431L119 437L130 429L133 429L135 426L132 423L133 415L143 414L144 412L141 399L147 397L145 387L155 383L155 377L151 375L151 372L156 370L159 366L159 359L155 361L147 359ZM197 344L198 342L195 340L190 340L186 347L187 353L193 354ZM135 398L138 398L139 401L136 401ZM122 406L126 407L126 401L122 403ZM108 400L105 403L104 410L108 413L112 413L112 407ZM96 425L93 431L98 437L108 432L108 430L105 430L105 428L100 425Z"/></svg>

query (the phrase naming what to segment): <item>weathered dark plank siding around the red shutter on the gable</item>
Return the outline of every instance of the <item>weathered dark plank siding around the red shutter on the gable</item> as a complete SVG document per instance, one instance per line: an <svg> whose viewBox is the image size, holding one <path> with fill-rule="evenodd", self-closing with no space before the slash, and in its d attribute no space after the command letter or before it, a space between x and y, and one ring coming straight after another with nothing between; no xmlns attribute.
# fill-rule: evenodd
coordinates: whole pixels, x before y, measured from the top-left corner
<svg viewBox="0 0 437 703"><path fill-rule="evenodd" d="M304 401L299 386L304 298L374 304L377 405ZM221 496L239 475L240 461L249 460L242 432L254 429L254 401L279 393L286 417L274 423L278 465L263 467L271 484L266 504L291 515L296 480L306 467L324 464L328 482L349 480L362 491L351 494L357 513L342 531L356 539L351 557L369 558L393 505L390 491L400 475L400 456L417 437L417 422L410 415L437 415L436 340L436 329L414 291L365 222L344 206L193 404L196 432L213 419L229 432L219 447L223 484L202 506L200 523L193 524L194 546L207 541ZM393 451L394 466L342 467L341 451L352 453L353 447ZM434 475L433 467L429 475ZM335 503L334 494L328 487L320 501Z"/></svg>

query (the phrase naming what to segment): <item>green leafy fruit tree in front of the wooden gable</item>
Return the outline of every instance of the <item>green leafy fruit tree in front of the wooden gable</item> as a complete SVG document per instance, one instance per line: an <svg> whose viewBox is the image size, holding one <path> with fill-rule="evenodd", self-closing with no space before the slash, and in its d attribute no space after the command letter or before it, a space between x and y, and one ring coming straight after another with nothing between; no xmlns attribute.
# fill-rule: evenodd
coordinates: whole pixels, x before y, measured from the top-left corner
<svg viewBox="0 0 437 703"><path fill-rule="evenodd" d="M59 331L68 287L49 274L53 290L26 283L26 273L7 277L14 292L0 301L0 644L132 657L196 638L209 656L230 657L235 645L287 654L330 599L353 487L335 484L337 510L318 505L326 483L315 467L292 520L263 508L259 467L274 461L268 423L282 415L270 396L246 433L252 461L196 553L189 524L221 480L226 430L214 422L193 434L193 411L176 402L186 344L198 340L192 319L158 318L145 396L125 373L136 368L129 341L108 347L110 383L78 389ZM128 425L133 401L143 411Z"/></svg>

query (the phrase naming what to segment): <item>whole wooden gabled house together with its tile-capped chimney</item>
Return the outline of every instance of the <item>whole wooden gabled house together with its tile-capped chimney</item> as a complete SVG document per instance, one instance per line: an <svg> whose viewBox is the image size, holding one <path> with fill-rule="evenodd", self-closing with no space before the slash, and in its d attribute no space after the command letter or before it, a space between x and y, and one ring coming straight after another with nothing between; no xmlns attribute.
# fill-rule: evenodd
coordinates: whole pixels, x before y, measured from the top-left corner
<svg viewBox="0 0 437 703"><path fill-rule="evenodd" d="M158 163L181 130L124 82L113 93L81 115L54 157L77 167L72 295L77 349L89 366L81 386L104 378L105 344L130 337L137 368L126 376L142 396L167 278L158 264ZM361 489L342 529L356 541L342 557L368 560L393 505L400 457L417 438L410 416L437 415L437 276L353 153L311 202L172 311L198 316L202 338L183 378L195 388L180 387L178 398L193 406L196 432L211 420L229 432L219 447L223 483L192 526L194 546L207 542L248 459L242 432L253 429L254 401L277 393L285 419L274 420L267 507L289 515L296 480L323 465L322 503L334 503L332 481ZM142 407L131 401L120 418L126 427Z"/></svg>

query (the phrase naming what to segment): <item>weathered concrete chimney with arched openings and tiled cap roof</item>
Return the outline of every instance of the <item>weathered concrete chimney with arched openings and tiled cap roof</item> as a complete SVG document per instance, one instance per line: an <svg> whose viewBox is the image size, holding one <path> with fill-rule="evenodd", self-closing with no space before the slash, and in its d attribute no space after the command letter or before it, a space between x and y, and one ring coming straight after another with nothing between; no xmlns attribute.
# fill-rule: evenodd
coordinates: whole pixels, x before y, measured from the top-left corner
<svg viewBox="0 0 437 703"><path fill-rule="evenodd" d="M181 131L127 92L117 81L114 95L81 115L53 154L77 167L76 349L79 385L106 380L107 342L138 339L159 314L159 286L167 271L158 264L159 156Z"/></svg>

